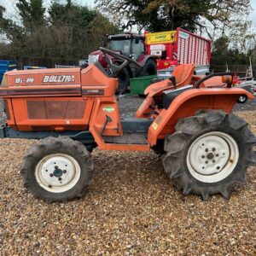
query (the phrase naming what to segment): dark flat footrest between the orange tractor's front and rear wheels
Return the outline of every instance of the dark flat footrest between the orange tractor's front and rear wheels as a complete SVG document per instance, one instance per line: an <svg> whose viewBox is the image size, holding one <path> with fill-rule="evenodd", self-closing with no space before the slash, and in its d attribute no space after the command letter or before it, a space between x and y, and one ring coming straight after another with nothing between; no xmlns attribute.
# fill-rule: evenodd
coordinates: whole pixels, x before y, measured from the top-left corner
<svg viewBox="0 0 256 256"><path fill-rule="evenodd" d="M104 137L105 143L113 144L140 144L147 145L148 141L146 137L148 136L145 132L131 133L125 132L122 137L116 136L106 136Z"/></svg>

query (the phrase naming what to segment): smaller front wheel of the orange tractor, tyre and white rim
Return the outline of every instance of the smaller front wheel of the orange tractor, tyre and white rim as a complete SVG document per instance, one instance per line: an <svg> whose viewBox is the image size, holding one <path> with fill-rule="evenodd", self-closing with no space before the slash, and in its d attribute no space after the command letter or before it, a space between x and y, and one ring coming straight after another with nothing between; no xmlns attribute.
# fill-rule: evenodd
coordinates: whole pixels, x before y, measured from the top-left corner
<svg viewBox="0 0 256 256"><path fill-rule="evenodd" d="M69 137L47 137L23 159L24 186L48 202L82 197L92 177L93 162L82 143Z"/></svg>

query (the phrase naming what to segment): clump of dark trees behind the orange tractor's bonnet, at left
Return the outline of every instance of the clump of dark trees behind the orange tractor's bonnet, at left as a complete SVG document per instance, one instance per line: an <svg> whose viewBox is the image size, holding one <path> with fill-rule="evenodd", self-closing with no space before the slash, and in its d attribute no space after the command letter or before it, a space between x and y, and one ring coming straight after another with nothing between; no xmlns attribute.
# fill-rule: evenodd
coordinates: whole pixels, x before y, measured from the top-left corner
<svg viewBox="0 0 256 256"><path fill-rule="evenodd" d="M17 20L4 16L0 5L0 33L7 38L2 54L49 58L86 58L102 44L106 33L117 32L107 17L74 1L18 0Z"/></svg>

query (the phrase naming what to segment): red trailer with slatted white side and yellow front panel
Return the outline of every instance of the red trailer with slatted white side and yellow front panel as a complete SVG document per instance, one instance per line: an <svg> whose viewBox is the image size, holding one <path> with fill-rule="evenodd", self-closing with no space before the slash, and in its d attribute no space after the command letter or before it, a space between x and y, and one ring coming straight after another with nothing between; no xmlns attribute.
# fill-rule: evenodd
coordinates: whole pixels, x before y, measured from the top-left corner
<svg viewBox="0 0 256 256"><path fill-rule="evenodd" d="M157 59L157 69L195 63L209 65L212 42L180 27L169 32L145 32L148 55Z"/></svg>

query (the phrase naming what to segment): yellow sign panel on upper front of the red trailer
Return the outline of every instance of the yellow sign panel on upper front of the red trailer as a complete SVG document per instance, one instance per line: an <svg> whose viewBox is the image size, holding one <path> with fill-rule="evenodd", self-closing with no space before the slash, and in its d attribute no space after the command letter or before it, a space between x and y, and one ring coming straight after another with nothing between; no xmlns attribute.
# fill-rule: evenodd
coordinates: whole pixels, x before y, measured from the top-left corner
<svg viewBox="0 0 256 256"><path fill-rule="evenodd" d="M175 42L176 31L146 34L146 44L167 44Z"/></svg>

